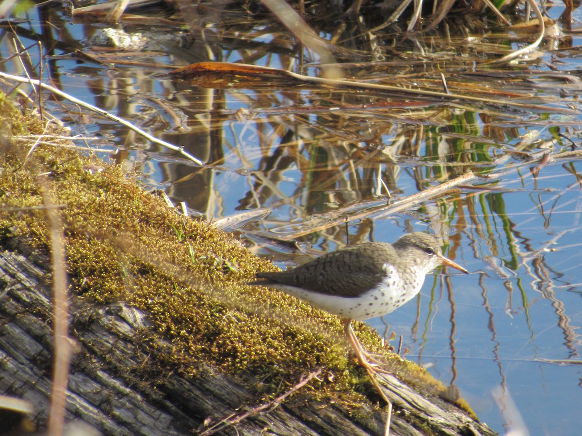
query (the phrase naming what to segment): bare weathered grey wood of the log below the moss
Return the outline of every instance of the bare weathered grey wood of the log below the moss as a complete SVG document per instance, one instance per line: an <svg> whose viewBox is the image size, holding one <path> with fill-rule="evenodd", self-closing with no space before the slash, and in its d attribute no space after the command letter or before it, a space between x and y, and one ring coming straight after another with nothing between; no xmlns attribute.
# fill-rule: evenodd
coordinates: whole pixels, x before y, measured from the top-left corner
<svg viewBox="0 0 582 436"><path fill-rule="evenodd" d="M12 250L0 252L0 393L29 401L34 408L29 419L39 431L46 428L51 392L49 270L48 261L33 262ZM156 361L159 367L171 344L155 337L147 315L123 303L96 307L80 296L70 299L70 334L76 344L68 426L81 422L112 435L384 434L381 409L350 414L338 405L315 401L300 388L281 403L257 405L235 377L210 369L197 377L171 369L148 373L148 362ZM396 407L393 435L494 434L455 405L418 394L396 378L387 377L381 384L389 386L385 393ZM0 420L7 423L3 414ZM22 434L14 425L13 433Z"/></svg>

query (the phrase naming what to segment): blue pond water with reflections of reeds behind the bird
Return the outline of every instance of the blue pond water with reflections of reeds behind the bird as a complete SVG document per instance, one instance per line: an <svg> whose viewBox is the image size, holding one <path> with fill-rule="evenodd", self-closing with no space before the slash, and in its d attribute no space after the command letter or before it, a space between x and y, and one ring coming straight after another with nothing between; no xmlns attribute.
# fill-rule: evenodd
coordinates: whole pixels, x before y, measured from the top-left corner
<svg viewBox="0 0 582 436"><path fill-rule="evenodd" d="M317 29L311 40L263 6L142 11L125 20L125 31L139 31L147 44L124 50L98 47L99 16L73 22L39 8L2 26L3 70L52 81L210 165L193 165L66 99L45 98L44 108L94 137L89 145L105 159L282 267L346 241L437 234L445 254L472 274L430 276L416 304L371 324L386 337L402 334L409 358L459 387L495 430L523 420L533 434L571 434L582 424L569 407L581 386L569 364L580 361L582 323L578 33L548 19L539 47L495 63L532 42L537 26L508 30L465 13L403 38L399 23L410 16L372 31L386 15L350 20L333 8L307 7ZM553 19L563 12L548 11ZM31 48L37 41L40 51ZM24 48L30 57L22 62L9 55ZM206 60L400 91L155 77ZM409 201L470 171L467 183Z"/></svg>

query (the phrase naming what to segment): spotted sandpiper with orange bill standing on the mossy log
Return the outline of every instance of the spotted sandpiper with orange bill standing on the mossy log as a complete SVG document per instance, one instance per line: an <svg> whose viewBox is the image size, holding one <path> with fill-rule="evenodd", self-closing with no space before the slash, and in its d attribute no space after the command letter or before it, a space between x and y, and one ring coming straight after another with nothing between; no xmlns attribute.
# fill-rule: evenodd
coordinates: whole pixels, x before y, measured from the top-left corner
<svg viewBox="0 0 582 436"><path fill-rule="evenodd" d="M358 361L368 371L377 371L351 321L386 315L399 308L418 294L425 275L441 264L468 274L443 256L434 237L417 232L403 235L394 244L366 242L327 253L292 270L258 273L257 278L267 280L251 284L281 290L341 316Z"/></svg>

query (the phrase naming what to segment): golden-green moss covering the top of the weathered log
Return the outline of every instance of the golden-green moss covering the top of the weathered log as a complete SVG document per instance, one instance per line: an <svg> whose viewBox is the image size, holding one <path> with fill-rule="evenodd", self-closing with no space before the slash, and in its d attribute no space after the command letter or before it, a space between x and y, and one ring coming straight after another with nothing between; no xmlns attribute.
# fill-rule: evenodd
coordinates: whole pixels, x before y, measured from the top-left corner
<svg viewBox="0 0 582 436"><path fill-rule="evenodd" d="M325 376L304 391L345 405L368 396L367 376L346 352L338 317L282 292L246 285L255 271L273 270L270 262L210 224L179 215L119 166L65 148L61 140L34 147L34 140L19 140L42 134L44 123L4 96L0 113L0 237L48 253L47 205L38 182L45 174L61 206L71 294L98 304L129 302L145 310L157 334L172 344L171 350L152 350L151 367L127 369L128 377L169 370L195 376L212 369L260 380L257 394L275 395L301 373L323 367ZM102 171L88 171L95 166ZM82 342L80 326L74 327ZM367 348L389 356L397 376L432 392L443 389L426 371L379 348L371 328L354 327ZM147 337L143 341L145 346Z"/></svg>

